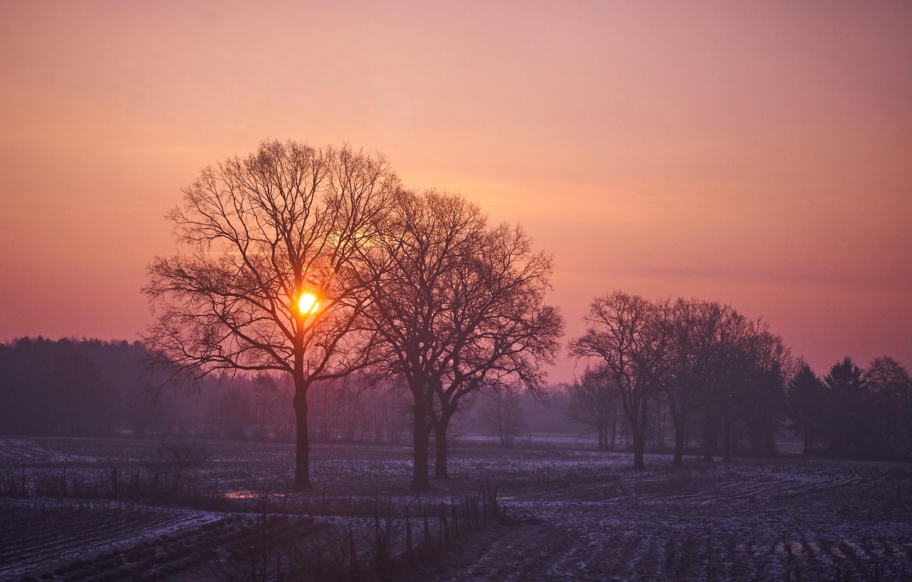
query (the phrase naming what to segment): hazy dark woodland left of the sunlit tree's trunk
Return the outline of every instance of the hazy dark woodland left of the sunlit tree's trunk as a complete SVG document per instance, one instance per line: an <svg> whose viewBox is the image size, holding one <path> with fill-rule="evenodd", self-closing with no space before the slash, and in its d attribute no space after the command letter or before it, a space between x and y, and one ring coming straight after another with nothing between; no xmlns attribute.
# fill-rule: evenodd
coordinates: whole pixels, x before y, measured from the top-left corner
<svg viewBox="0 0 912 582"><path fill-rule="evenodd" d="M286 388L207 378L198 393L158 391L140 342L19 338L0 344L0 433L138 438L161 434L287 438Z"/></svg>

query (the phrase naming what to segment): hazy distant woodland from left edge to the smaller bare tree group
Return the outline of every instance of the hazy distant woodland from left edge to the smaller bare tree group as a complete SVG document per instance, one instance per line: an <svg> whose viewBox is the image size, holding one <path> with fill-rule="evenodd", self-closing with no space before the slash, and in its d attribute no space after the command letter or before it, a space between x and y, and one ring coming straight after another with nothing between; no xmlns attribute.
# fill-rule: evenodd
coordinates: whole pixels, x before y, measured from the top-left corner
<svg viewBox="0 0 912 582"><path fill-rule="evenodd" d="M222 374L192 390L162 389L164 378L148 369L149 359L141 342L24 337L0 343L0 434L294 443L292 387L282 376ZM409 391L401 383L356 374L316 383L309 396L313 441L409 441ZM559 401L552 409L515 386L490 391L465 407L450 437L489 433L509 445L523 434L525 419L538 431L570 430L550 418L560 416Z"/></svg>

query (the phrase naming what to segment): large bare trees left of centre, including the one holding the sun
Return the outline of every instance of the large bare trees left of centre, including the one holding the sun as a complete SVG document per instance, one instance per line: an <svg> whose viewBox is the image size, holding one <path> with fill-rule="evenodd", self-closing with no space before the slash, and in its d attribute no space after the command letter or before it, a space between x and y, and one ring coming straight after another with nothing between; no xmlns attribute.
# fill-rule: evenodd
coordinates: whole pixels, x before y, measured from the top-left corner
<svg viewBox="0 0 912 582"><path fill-rule="evenodd" d="M411 396L411 488L447 477L451 420L482 388L543 387L564 321L552 260L461 196L404 189L379 155L264 142L204 168L170 213L189 251L157 258L145 337L174 380L284 373L295 486L309 488L311 386L354 372Z"/></svg>

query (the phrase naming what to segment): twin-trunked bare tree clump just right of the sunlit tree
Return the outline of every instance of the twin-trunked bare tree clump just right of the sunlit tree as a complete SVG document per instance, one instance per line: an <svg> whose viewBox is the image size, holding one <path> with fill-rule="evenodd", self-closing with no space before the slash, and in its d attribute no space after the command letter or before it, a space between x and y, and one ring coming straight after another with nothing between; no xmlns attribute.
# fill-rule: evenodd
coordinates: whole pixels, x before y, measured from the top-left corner
<svg viewBox="0 0 912 582"><path fill-rule="evenodd" d="M430 431L435 473L445 478L446 429L460 399L507 377L538 388L563 319L543 303L551 258L534 253L518 227L489 229L461 196L404 192L384 230L368 249L375 265L368 314L389 373L412 395L411 488L424 491Z"/></svg>

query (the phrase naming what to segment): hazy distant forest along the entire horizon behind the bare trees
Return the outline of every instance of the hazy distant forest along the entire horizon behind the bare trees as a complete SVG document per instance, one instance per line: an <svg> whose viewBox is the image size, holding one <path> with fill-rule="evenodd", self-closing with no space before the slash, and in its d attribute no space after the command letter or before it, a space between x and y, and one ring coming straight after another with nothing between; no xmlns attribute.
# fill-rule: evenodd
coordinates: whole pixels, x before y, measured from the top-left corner
<svg viewBox="0 0 912 582"><path fill-rule="evenodd" d="M176 435L294 442L292 386L265 373L207 377L193 387L165 385L148 368L140 342L21 338L0 344L0 434L41 436ZM776 454L777 435L803 453L855 459L912 459L912 382L889 357L865 368L851 359L819 377L799 363L781 389L707 399L689 419L689 454ZM308 393L316 442L408 444L408 389L355 377ZM714 407L716 407L714 409ZM660 394L649 409L648 450L669 452L674 430ZM725 422L720 422L723 419ZM617 389L597 374L552 386L543 400L512 386L478 394L453 436L490 434L505 446L526 434L595 435L606 450L629 450Z"/></svg>

